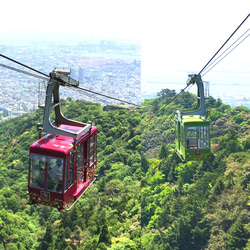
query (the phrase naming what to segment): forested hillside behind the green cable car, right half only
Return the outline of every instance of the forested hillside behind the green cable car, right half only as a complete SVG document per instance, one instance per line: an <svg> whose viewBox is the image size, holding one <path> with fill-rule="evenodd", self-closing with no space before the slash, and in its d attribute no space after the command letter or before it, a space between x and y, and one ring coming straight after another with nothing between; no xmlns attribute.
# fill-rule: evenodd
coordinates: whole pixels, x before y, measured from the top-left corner
<svg viewBox="0 0 250 250"><path fill-rule="evenodd" d="M250 110L206 100L212 157L182 163L174 113L196 97L174 95L142 103L142 249L250 249Z"/></svg>

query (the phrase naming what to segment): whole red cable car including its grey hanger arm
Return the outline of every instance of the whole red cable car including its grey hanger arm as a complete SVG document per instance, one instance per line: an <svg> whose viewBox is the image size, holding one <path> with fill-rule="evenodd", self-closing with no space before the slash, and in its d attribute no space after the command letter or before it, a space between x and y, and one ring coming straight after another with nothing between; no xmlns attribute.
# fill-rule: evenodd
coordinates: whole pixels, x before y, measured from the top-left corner
<svg viewBox="0 0 250 250"><path fill-rule="evenodd" d="M50 74L43 123L43 130L50 133L30 146L30 203L56 207L59 211L70 209L96 180L97 128L91 123L66 119L60 111L59 86L79 84L69 74L58 70ZM53 123L51 108L55 110Z"/></svg>

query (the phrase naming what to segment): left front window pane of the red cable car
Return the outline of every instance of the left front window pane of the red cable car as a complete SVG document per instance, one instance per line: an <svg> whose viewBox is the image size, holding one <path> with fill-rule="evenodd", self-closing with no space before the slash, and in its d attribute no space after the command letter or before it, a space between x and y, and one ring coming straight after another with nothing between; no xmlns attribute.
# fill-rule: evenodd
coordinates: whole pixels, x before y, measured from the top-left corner
<svg viewBox="0 0 250 250"><path fill-rule="evenodd" d="M46 158L41 155L30 155L30 186L44 189Z"/></svg>

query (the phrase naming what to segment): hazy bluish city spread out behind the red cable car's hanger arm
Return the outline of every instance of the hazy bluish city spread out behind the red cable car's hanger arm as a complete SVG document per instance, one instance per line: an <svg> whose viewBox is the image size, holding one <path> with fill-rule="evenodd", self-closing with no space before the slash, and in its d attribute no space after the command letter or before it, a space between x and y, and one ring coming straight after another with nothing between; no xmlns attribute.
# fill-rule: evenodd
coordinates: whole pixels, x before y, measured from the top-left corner
<svg viewBox="0 0 250 250"><path fill-rule="evenodd" d="M71 42L64 44L28 42L22 46L0 44L0 51L1 54L45 74L49 74L54 68L72 69L72 77L79 80L81 88L124 100L124 102L139 104L141 96L141 63L138 60L140 46L116 42L112 44L114 48L110 50L101 48L100 43L89 41L74 45ZM0 57L0 62L15 69L30 72L29 69L3 57ZM41 86L39 82L37 78L23 72L0 66L0 111L4 111L4 116L10 118L25 112L33 112L39 104L43 104L46 85L42 84L42 88L38 88ZM38 92L38 89L44 91ZM82 90L60 88L60 98L68 97L99 102L102 105L118 102ZM2 113L1 119L3 119Z"/></svg>

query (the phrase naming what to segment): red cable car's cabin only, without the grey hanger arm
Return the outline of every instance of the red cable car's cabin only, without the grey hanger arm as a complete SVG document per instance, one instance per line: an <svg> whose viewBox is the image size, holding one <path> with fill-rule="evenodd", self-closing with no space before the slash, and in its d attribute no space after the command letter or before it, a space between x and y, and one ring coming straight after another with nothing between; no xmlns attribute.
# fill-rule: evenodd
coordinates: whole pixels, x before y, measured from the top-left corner
<svg viewBox="0 0 250 250"><path fill-rule="evenodd" d="M81 127L62 125L67 130ZM95 181L96 133L77 138L48 134L30 146L29 195L32 204L43 204L62 210Z"/></svg>

